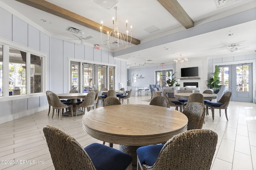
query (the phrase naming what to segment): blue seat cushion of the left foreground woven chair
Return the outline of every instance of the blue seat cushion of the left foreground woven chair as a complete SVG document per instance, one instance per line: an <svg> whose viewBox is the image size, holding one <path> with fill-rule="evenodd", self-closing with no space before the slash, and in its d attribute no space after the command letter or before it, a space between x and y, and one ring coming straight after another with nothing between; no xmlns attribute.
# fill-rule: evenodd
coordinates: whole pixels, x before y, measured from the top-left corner
<svg viewBox="0 0 256 170"><path fill-rule="evenodd" d="M92 143L84 150L90 156L96 170L125 170L132 162L130 155L99 143Z"/></svg>

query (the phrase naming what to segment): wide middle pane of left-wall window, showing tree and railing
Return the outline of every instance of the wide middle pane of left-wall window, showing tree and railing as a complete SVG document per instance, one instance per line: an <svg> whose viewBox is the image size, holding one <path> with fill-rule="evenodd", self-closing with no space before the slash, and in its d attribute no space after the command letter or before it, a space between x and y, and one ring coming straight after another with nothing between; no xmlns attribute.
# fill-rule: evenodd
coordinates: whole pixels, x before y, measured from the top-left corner
<svg viewBox="0 0 256 170"><path fill-rule="evenodd" d="M26 52L9 48L9 95L26 94Z"/></svg>

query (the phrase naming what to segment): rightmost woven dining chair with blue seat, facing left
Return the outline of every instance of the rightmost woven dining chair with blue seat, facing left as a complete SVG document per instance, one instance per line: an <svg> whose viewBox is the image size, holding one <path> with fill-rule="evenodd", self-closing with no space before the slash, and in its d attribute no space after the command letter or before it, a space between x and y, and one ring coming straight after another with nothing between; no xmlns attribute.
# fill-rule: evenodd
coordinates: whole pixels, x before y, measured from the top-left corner
<svg viewBox="0 0 256 170"><path fill-rule="evenodd" d="M218 102L208 102L206 103L206 115L208 115L208 109L209 107L212 110L212 120L214 120L214 109L225 109L225 115L226 119L228 121L228 114L227 114L227 109L228 109L228 104L230 102L230 98L232 96L231 92L226 92L222 96L222 98Z"/></svg>

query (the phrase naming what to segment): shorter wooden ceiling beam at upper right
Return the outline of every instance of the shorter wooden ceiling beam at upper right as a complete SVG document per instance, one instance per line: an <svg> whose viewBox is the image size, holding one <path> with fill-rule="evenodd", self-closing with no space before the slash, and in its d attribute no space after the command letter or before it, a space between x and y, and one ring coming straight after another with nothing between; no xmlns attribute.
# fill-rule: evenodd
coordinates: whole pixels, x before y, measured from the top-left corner
<svg viewBox="0 0 256 170"><path fill-rule="evenodd" d="M177 0L157 0L186 29L194 27L194 21L188 16Z"/></svg>

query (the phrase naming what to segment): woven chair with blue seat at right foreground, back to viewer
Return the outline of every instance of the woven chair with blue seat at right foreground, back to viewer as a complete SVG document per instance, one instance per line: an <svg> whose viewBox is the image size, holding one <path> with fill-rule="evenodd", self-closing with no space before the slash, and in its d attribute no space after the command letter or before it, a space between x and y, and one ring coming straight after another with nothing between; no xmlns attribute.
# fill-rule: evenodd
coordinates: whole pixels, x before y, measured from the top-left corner
<svg viewBox="0 0 256 170"><path fill-rule="evenodd" d="M218 135L208 129L194 129L173 136L165 144L140 147L137 169L210 170Z"/></svg>

